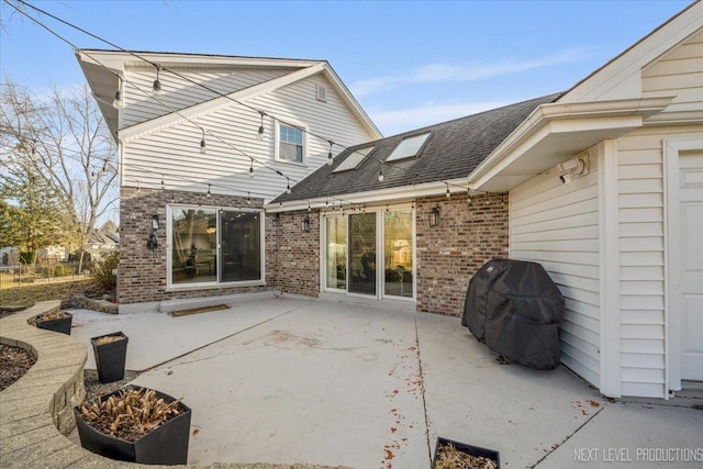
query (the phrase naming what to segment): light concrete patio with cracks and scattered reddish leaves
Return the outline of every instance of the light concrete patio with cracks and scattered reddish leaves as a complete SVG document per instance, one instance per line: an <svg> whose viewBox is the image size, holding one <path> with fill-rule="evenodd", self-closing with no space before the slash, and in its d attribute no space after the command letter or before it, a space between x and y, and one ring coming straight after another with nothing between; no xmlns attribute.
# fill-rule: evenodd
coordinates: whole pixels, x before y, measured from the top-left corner
<svg viewBox="0 0 703 469"><path fill-rule="evenodd" d="M181 317L71 312L74 337L124 332L134 383L193 409L189 464L420 469L437 436L503 468L703 464L701 400L609 402L563 367L498 364L457 317L272 295Z"/></svg>

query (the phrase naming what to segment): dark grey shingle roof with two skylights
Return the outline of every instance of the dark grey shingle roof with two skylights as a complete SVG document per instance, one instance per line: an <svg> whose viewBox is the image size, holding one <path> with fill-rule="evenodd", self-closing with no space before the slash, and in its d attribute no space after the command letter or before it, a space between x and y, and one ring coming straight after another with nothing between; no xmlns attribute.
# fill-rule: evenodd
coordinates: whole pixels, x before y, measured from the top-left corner
<svg viewBox="0 0 703 469"><path fill-rule="evenodd" d="M324 199L332 196L369 192L397 187L466 178L500 145L537 107L554 102L560 93L549 94L516 104L481 112L403 134L347 148L297 183L290 194L283 193L271 203ZM415 157L387 161L393 149L414 135L429 133ZM335 171L348 158L373 146L355 168ZM378 180L383 169L383 181ZM457 188L451 187L451 191Z"/></svg>

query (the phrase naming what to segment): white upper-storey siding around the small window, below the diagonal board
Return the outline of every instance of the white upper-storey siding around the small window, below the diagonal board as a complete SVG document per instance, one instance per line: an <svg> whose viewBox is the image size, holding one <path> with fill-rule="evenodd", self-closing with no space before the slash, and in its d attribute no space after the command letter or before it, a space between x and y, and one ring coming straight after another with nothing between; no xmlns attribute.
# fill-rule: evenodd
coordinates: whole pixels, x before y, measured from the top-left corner
<svg viewBox="0 0 703 469"><path fill-rule="evenodd" d="M275 160L274 120L264 119L264 141L256 138L260 125L257 112L232 103L210 114L181 122L124 144L123 186L160 188L164 175L165 189L207 192L208 183L215 193L247 196L267 200L280 194L287 179L291 185L303 179L325 164L330 143L312 134L325 136L344 146L368 142L373 136L349 112L334 88L327 89L327 102L315 99L315 87L324 79L315 76L294 82L271 93L247 101L255 109L290 120L303 121L308 135L305 165ZM207 154L199 153L202 131L205 130ZM250 158L254 158L254 178L249 178ZM267 169L267 165L272 168Z"/></svg>

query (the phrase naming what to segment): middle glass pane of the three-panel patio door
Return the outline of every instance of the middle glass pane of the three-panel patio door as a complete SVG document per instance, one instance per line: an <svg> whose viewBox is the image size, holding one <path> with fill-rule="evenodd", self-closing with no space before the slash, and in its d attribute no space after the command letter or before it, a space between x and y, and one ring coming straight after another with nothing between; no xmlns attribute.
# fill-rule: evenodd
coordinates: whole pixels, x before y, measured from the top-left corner
<svg viewBox="0 0 703 469"><path fill-rule="evenodd" d="M349 214L350 293L376 295L376 213Z"/></svg>

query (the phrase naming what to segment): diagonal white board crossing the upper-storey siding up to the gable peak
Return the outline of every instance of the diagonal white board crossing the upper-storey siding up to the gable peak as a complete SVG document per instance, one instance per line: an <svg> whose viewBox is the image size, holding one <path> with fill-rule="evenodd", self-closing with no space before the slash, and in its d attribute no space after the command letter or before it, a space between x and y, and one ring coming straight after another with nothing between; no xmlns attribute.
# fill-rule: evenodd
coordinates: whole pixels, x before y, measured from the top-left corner
<svg viewBox="0 0 703 469"><path fill-rule="evenodd" d="M152 119L150 121L141 122L126 129L122 129L118 133L118 137L123 143L129 143L135 138L143 137L157 131L180 124L187 120L197 119L201 115L210 114L222 108L235 104L232 100L245 101L255 96L274 91L278 88L302 80L303 78L319 74L324 69L324 63L317 63L311 67L297 70L282 77L245 88L239 91L227 94L226 97L215 98L190 108Z"/></svg>

